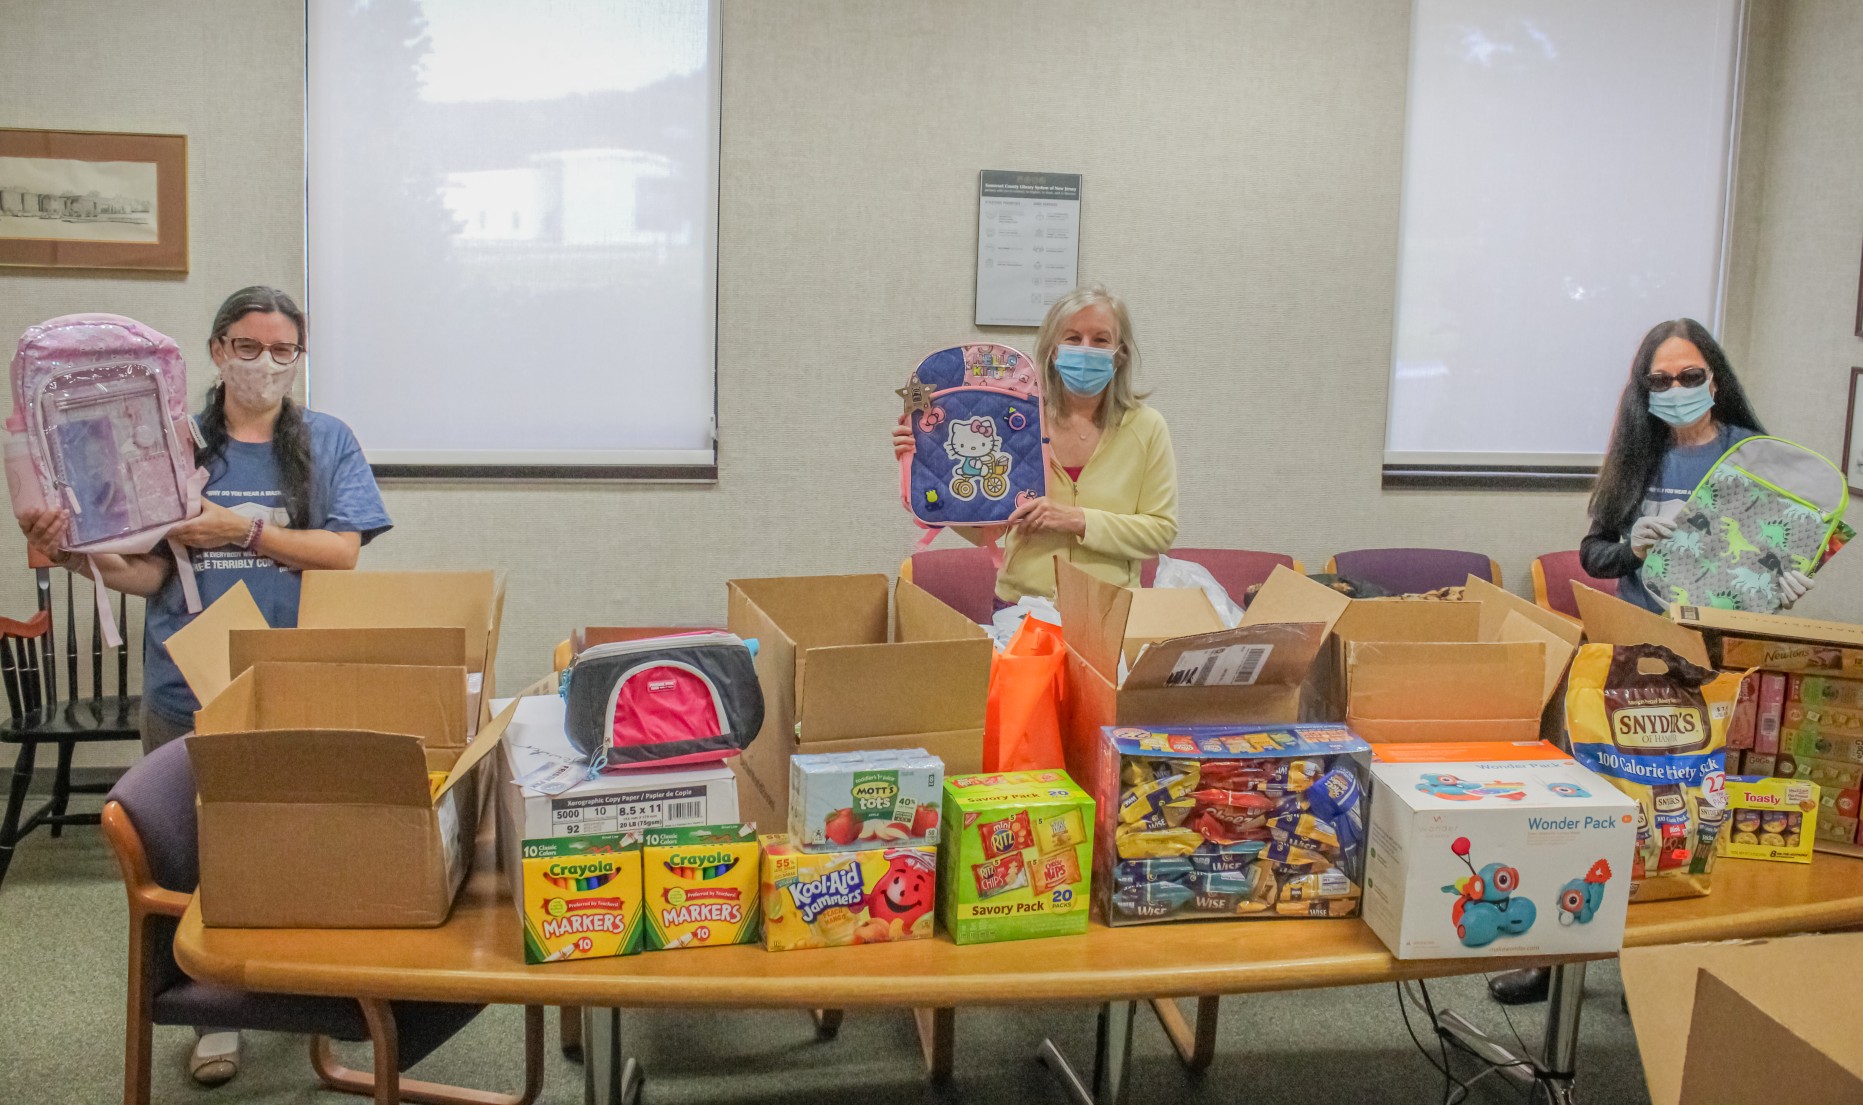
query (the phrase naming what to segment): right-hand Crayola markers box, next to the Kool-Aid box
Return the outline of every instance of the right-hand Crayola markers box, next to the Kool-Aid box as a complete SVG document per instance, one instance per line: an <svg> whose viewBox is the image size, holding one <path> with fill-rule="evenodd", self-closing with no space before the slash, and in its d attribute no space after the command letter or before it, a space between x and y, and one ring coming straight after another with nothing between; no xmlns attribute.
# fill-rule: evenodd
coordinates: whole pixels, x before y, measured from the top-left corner
<svg viewBox="0 0 1863 1105"><path fill-rule="evenodd" d="M756 943L756 825L646 829L641 883L646 948Z"/></svg>

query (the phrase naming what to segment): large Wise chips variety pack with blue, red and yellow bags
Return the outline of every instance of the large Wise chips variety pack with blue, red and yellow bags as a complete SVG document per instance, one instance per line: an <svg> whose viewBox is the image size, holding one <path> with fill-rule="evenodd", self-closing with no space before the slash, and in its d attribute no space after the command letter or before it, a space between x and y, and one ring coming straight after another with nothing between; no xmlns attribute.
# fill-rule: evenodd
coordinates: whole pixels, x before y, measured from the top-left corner
<svg viewBox="0 0 1863 1105"><path fill-rule="evenodd" d="M1107 924L1356 917L1367 758L1341 725L1107 727Z"/></svg>

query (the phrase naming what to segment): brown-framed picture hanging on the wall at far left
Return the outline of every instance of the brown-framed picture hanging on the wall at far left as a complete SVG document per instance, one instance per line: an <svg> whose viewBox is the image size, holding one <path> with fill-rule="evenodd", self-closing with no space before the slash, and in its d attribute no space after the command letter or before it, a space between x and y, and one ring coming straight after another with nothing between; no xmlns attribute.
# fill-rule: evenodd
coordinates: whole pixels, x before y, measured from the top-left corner
<svg viewBox="0 0 1863 1105"><path fill-rule="evenodd" d="M0 127L0 265L188 270L188 138Z"/></svg>

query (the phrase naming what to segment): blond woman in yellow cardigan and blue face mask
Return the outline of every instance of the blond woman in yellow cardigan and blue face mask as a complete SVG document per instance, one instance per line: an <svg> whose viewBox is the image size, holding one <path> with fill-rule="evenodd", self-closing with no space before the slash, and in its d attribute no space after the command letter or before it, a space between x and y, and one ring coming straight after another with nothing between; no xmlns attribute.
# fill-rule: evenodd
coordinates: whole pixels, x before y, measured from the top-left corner
<svg viewBox="0 0 1863 1105"><path fill-rule="evenodd" d="M1105 287L1054 300L1036 335L1049 436L1047 494L1010 514L997 602L1054 596L1054 557L1122 587L1177 537L1177 458L1164 416L1133 386L1138 339L1125 302ZM900 419L892 451L913 451ZM958 527L969 540L991 531Z"/></svg>

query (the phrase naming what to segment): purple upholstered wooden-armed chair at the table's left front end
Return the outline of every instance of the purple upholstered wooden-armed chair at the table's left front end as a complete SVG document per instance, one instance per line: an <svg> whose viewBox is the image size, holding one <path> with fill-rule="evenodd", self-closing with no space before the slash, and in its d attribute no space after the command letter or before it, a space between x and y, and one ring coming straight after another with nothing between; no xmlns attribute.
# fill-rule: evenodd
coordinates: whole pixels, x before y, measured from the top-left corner
<svg viewBox="0 0 1863 1105"><path fill-rule="evenodd" d="M408 1070L466 1027L484 1006L425 1001L363 1003L345 997L253 993L188 978L175 963L175 926L199 881L194 827L194 766L186 738L170 742L130 768L104 803L104 835L129 889L129 1034L123 1101L149 1101L153 1025L212 1025L304 1032L311 1066L333 1090L373 1094L376 1101L529 1105L542 1088L542 1008L525 1008L524 1094L490 1096L456 1086L395 1079L376 1086L367 1073L335 1064L330 1040L374 1044L374 1070Z"/></svg>

